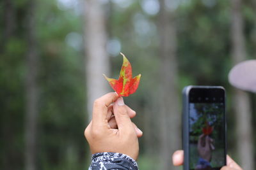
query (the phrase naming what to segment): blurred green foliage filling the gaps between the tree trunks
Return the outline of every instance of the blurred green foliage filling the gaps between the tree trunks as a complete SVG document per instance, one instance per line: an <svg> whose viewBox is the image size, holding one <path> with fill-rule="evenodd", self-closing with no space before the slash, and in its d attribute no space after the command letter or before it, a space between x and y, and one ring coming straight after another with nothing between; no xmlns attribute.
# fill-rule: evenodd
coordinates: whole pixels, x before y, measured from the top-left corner
<svg viewBox="0 0 256 170"><path fill-rule="evenodd" d="M13 31L8 38L5 34L4 2L0 1L0 15L3 16L0 20L0 169L22 169L26 123L24 78L28 50L28 1L12 2ZM134 122L138 127L144 132L149 131L143 129L143 122L148 110L156 111L157 114L157 108L153 108L157 94L152 90L158 87L158 69L161 67L157 12L152 14L145 10L143 4L147 3L147 0L126 4L124 1L102 2L105 2L103 5L109 36L107 46L111 50L109 55L113 74L108 76L117 78L122 57L116 56L120 51L124 52L132 63L134 75L142 75L138 92L125 98L125 103L137 111ZM158 1L155 2L157 4ZM38 167L86 169L90 156L83 136L88 122L85 111L84 4L78 0L45 0L36 3L34 29L40 55L40 115L36 158ZM177 24L179 92L181 94L182 88L190 84L222 85L227 89L228 152L233 156L236 153L233 142L235 124L231 105L232 88L227 81L228 71L232 67L229 1L193 0L176 3L177 8L173 9ZM252 3L250 0L243 5L248 59L255 58L256 55L256 22ZM109 42L113 39L117 45L111 46ZM255 103L255 95L252 95L252 98ZM252 121L255 128L255 106ZM154 133L156 132L150 133L152 143L157 143ZM141 138L141 169L157 169L155 157L150 156L144 144L145 139ZM157 148L154 148L154 145L151 147L157 157ZM236 159L236 155L233 157Z"/></svg>

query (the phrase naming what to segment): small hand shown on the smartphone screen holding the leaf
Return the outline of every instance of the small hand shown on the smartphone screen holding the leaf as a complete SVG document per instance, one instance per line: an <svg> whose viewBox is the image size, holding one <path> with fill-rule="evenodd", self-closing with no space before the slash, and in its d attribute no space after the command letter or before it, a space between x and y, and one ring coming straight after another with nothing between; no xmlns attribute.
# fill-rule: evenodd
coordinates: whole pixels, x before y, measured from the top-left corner
<svg viewBox="0 0 256 170"><path fill-rule="evenodd" d="M212 141L213 140L208 135L205 136L204 134L201 134L197 143L197 151L199 156L208 162L211 161L212 148L214 148Z"/></svg>

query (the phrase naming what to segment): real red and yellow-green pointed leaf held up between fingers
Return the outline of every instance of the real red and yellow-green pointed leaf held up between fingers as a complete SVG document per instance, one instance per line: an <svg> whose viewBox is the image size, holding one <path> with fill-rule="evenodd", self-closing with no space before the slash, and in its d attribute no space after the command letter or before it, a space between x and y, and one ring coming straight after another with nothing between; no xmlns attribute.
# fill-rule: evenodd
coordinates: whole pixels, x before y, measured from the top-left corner
<svg viewBox="0 0 256 170"><path fill-rule="evenodd" d="M120 71L118 80L114 78L108 78L105 74L104 77L108 80L109 85L115 90L118 96L129 96L138 89L140 84L141 74L132 78L132 66L129 60L121 53L124 57L123 65Z"/></svg>

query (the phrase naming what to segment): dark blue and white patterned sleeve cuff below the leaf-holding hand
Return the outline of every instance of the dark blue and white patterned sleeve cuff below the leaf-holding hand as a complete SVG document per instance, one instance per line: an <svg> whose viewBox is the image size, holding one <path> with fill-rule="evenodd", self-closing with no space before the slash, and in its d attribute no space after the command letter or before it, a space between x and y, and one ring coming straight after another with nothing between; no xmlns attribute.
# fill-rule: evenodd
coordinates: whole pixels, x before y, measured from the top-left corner
<svg viewBox="0 0 256 170"><path fill-rule="evenodd" d="M138 170L134 159L122 153L102 152L92 155L89 170Z"/></svg>

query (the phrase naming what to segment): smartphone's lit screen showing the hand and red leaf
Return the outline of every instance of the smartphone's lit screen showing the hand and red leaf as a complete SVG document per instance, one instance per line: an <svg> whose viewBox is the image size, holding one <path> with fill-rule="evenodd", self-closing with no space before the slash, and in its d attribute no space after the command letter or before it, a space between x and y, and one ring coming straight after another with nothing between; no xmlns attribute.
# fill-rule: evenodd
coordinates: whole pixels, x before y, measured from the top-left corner
<svg viewBox="0 0 256 170"><path fill-rule="evenodd" d="M225 101L223 96L189 99L189 169L225 166Z"/></svg>

